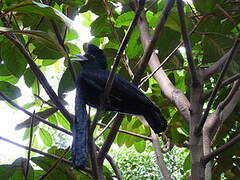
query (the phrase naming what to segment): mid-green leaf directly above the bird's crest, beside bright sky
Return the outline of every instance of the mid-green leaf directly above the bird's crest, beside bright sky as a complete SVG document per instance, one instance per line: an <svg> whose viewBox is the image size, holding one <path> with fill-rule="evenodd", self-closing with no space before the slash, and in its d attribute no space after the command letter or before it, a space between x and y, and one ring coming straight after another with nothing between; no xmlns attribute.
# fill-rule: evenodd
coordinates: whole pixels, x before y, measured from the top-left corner
<svg viewBox="0 0 240 180"><path fill-rule="evenodd" d="M107 16L100 16L91 24L91 34L95 37L104 37L110 33L112 33L112 29Z"/></svg>

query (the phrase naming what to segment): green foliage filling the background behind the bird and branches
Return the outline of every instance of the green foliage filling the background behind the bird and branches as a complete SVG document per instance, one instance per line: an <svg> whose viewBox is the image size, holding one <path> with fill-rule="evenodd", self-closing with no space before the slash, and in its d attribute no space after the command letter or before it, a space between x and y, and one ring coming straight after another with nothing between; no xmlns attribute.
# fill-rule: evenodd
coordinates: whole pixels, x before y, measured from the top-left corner
<svg viewBox="0 0 240 180"><path fill-rule="evenodd" d="M22 87L18 84L19 80L23 78L25 86L32 90L32 94L46 97L44 89L40 85L39 77L34 74L33 69L31 69L26 61L26 55L9 38L14 37L22 43L23 47L26 48L26 52L30 53L37 67L44 75L51 71L51 75L47 76L48 80L52 76L57 76L58 80L54 82L53 87L58 92L60 100L64 102L65 96L75 88L71 66L69 66L69 58L74 54L81 53L80 48L74 44L73 40L81 39L81 36L84 36L83 33L80 33L78 37L77 32L72 29L72 20L75 15L80 12L83 18L83 25L91 29L93 38L91 41L89 40L90 43L100 46L104 50L108 57L108 69L110 69L121 40L132 22L135 13L131 8L132 5L126 0L49 1L50 4L45 0L41 2L38 0L0 1L0 92L9 99L16 100L24 93L21 91ZM159 15L163 12L165 4L165 0L149 0L146 2L145 10L146 19L149 24L149 34L154 32ZM239 28L236 27L239 27L240 5L238 1L196 0L193 6L193 12L189 6L185 6L185 20L188 32L193 29L196 21L201 21L197 30L190 36L193 57L198 69L201 69L211 66L231 49L239 33ZM223 13L224 11L219 6L231 18L226 17L226 14ZM181 42L181 26L178 16L177 8L174 6L157 41L155 51L161 62ZM123 57L125 61L120 64L118 73L130 80L131 74L129 74L129 69L125 67L129 67L134 73L143 53L144 47L141 43L141 33L138 28L135 28L126 47ZM188 71L188 63L185 56L183 51L178 50L164 64L163 69L173 85L185 94L187 98L190 98L191 75ZM239 55L234 58L224 79L239 73L240 61L238 59ZM76 74L81 71L77 64L72 63L72 66ZM150 68L147 68L144 75L146 76L150 73ZM218 77L218 75L214 75L204 82L204 93L212 90ZM166 136L171 140L171 143L175 146L181 146L189 142L191 135L189 124L181 116L175 104L164 95L161 90L161 84L159 85L154 78L149 78L141 88L168 119ZM217 109L219 103L225 99L230 90L231 85L219 90L211 112ZM0 98L0 100L3 101L3 98ZM53 102L49 99L47 104L38 98L33 98L32 102L26 102L24 108L34 107L38 110L36 115L70 131L70 123L61 112L50 111L51 107L49 103ZM204 104L203 102L201 103ZM204 108L207 103L208 100L205 101ZM101 116L100 122L106 124L112 117L112 113L104 113ZM213 150L224 145L239 134L240 124L238 117L239 104L234 108L231 115L218 131L211 147ZM21 126L21 128L27 128L23 137L24 139L29 139L30 137L30 123L31 118L26 120L26 123ZM56 138L55 131L50 130L49 133L47 126L39 125L39 122L34 124L34 126L34 132L36 132L33 137L34 148L43 147L45 150L49 148L49 153L52 153L51 149L53 149L54 145L60 144L61 147L64 147L63 144L54 142L57 139L65 139L62 137L62 134L59 138ZM145 126L137 117L125 116L120 128L148 137L151 134L149 127ZM99 127L96 133L100 130L102 130L102 127ZM109 130L103 133L104 140L108 133ZM39 140L43 146L38 144ZM133 176L136 179L141 179L140 176L144 179L148 178L149 174L152 174L155 179L160 177L157 172L157 166L153 165L153 158L150 157L154 156L153 149L148 148L147 140L125 133L118 133L114 143L117 147L122 148L124 146L124 149L126 149L126 152L123 151L125 153L113 153L114 156L116 155L120 169L124 172L123 176L126 179L133 179ZM132 153L133 147L140 154ZM132 154L128 154L129 149L131 149L130 152ZM172 177L184 179L189 175L191 159L190 155L187 155L186 152L188 152L187 148L185 150L176 148L176 150L174 149L165 155L165 161L170 173L172 173ZM70 157L66 158L70 159ZM213 160L213 178L238 178L240 174L239 159L238 143ZM35 166L30 165L29 179L42 176L55 162L55 160L45 156L32 157L31 161L41 167L42 170L37 170ZM1 165L0 179L23 177L25 163L26 159L19 158L12 164ZM182 168L176 173L176 167ZM105 176L111 179L112 174L110 173L110 168L108 168L105 168ZM75 171L64 163L61 163L56 168L56 171L49 176L49 179L58 179L59 177L67 179L66 175L69 175L68 178L70 177L71 179L90 179L86 172Z"/></svg>

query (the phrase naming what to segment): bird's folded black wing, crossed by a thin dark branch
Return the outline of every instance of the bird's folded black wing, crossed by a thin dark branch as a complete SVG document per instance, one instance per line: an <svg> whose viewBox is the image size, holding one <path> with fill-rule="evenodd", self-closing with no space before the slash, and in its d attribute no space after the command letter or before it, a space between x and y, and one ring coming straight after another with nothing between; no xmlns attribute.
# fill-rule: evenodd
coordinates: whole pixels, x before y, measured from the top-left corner
<svg viewBox="0 0 240 180"><path fill-rule="evenodd" d="M104 90L105 84L109 76L108 71L98 70L98 71L85 71L82 72L82 79L84 82L96 90ZM116 98L129 97L130 99L138 99L149 105L153 103L132 83L121 77L120 75L114 75L114 82L111 89L110 96Z"/></svg>

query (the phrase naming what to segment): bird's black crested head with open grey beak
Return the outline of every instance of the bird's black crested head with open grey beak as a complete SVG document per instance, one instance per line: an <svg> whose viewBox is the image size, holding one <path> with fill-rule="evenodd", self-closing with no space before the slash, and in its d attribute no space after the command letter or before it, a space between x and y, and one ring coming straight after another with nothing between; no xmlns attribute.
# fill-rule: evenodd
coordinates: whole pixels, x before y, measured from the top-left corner
<svg viewBox="0 0 240 180"><path fill-rule="evenodd" d="M79 61L83 67L107 69L107 59L103 50L93 44L88 44L87 52L84 55L77 54L75 56L77 58L73 60Z"/></svg>

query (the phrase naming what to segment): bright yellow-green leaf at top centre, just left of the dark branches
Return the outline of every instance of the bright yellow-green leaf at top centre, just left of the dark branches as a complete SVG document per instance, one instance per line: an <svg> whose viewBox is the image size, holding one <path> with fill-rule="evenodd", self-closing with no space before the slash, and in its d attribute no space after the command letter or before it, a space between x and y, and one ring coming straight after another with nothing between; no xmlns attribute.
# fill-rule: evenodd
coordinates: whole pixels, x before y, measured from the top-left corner
<svg viewBox="0 0 240 180"><path fill-rule="evenodd" d="M115 27L129 26L134 18L135 13L133 11L121 14L116 19Z"/></svg>

